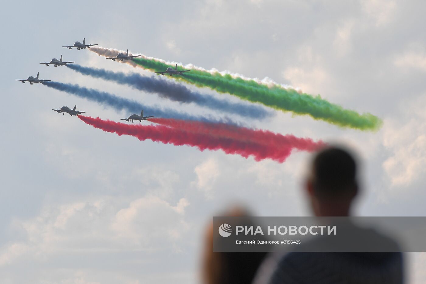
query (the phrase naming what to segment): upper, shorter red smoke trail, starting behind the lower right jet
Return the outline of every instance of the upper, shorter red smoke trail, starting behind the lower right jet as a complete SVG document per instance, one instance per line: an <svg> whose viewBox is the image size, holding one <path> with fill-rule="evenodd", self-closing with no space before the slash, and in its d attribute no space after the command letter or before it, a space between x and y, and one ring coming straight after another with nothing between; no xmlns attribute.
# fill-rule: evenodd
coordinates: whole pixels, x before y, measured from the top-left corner
<svg viewBox="0 0 426 284"><path fill-rule="evenodd" d="M322 141L314 142L309 138L297 138L293 135L282 135L268 130L250 129L225 123L209 123L167 118L150 118L149 120L154 123L188 132L203 133L216 137L227 137L239 141L253 141L276 149L287 149L290 147L311 152L325 145Z"/></svg>

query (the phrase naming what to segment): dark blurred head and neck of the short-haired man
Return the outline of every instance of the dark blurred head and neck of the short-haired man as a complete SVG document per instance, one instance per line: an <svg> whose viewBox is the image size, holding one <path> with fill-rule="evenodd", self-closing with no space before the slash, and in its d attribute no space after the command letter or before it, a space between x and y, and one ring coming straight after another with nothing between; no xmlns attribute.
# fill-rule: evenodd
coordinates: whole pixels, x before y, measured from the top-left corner
<svg viewBox="0 0 426 284"><path fill-rule="evenodd" d="M317 216L345 216L358 192L357 165L346 150L322 149L314 156L306 188Z"/></svg>

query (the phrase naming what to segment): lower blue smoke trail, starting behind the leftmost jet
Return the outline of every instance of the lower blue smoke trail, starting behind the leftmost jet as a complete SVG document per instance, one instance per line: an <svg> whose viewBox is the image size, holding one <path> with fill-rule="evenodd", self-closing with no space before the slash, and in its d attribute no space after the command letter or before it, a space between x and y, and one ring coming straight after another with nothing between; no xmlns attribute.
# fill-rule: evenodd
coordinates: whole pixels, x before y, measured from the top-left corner
<svg viewBox="0 0 426 284"><path fill-rule="evenodd" d="M138 114L141 112L142 109L144 109L147 115L154 115L155 117L236 124L235 122L232 122L229 118L218 120L212 117L194 116L194 115L189 115L182 112L176 112L174 109L164 109L164 108L161 108L160 106L147 106L135 100L121 98L107 92L98 91L96 89L81 87L81 86L78 86L78 84L67 84L67 83L60 83L55 81L42 82L42 84L50 88L57 89L59 91L76 95L80 98L85 98L87 100L95 101L104 106L112 107L118 112L122 110L126 110L129 112L129 114L130 113Z"/></svg>

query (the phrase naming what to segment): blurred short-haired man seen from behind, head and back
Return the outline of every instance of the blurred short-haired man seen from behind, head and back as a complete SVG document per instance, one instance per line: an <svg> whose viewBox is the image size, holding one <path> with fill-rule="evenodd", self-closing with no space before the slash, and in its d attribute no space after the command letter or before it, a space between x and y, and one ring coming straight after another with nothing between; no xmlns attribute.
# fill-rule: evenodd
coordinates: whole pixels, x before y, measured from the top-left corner
<svg viewBox="0 0 426 284"><path fill-rule="evenodd" d="M314 155L304 187L315 216L350 216L360 191L354 156L339 146L320 150ZM355 232L362 235L367 230ZM380 242L397 246L384 235L371 230L368 234ZM399 247L396 248L398 251ZM262 263L254 283L401 284L403 258L400 252L271 253Z"/></svg>

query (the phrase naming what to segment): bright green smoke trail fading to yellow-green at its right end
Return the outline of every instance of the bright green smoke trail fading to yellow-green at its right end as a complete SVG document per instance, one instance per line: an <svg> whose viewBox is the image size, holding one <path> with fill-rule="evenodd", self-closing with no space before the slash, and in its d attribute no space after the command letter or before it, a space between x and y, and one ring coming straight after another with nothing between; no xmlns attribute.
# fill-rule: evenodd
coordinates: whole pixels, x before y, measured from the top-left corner
<svg viewBox="0 0 426 284"><path fill-rule="evenodd" d="M155 72L164 71L167 67L174 68L174 66L149 58L134 58L133 61L141 67ZM324 120L340 127L377 130L382 125L382 120L375 115L370 113L359 114L354 110L344 109L342 106L321 98L320 95L312 96L281 86L270 88L254 80L235 78L229 74L211 74L210 72L192 69L191 72L173 76L173 78L199 87L209 87L217 92L236 95L251 102L262 103L283 112L290 111L296 115L310 115L315 120Z"/></svg>

